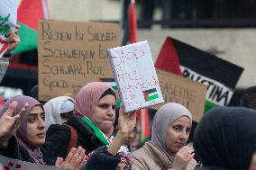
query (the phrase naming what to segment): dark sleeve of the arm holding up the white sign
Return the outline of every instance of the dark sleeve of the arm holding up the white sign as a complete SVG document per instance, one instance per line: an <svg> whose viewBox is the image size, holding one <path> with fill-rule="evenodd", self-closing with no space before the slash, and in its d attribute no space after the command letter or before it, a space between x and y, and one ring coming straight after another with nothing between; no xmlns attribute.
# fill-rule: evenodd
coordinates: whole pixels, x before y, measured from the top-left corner
<svg viewBox="0 0 256 170"><path fill-rule="evenodd" d="M121 158L118 155L113 156L106 150L106 147L101 147L96 149L81 170L115 170L120 161Z"/></svg>

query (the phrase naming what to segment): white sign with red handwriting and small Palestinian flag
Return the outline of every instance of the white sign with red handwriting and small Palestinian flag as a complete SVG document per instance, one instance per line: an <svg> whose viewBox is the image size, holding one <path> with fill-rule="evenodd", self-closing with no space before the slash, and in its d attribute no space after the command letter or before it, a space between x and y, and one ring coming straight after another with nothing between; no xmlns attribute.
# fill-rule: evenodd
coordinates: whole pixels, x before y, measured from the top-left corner
<svg viewBox="0 0 256 170"><path fill-rule="evenodd" d="M108 49L124 112L163 103L148 41Z"/></svg>

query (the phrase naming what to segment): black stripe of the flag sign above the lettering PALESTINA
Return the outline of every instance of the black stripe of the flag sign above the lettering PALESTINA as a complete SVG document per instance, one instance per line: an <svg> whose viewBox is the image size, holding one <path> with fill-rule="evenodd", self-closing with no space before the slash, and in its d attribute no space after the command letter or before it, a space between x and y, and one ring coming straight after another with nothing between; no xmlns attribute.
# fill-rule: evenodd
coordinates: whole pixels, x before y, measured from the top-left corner
<svg viewBox="0 0 256 170"><path fill-rule="evenodd" d="M171 38L178 53L179 63L202 76L214 79L227 87L234 88L243 68L222 58L196 49L184 42Z"/></svg>

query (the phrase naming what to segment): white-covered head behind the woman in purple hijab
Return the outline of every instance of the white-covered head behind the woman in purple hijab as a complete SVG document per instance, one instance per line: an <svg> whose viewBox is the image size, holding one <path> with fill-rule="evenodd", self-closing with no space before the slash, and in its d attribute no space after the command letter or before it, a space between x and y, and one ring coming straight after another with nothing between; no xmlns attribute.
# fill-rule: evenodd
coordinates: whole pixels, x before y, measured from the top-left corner
<svg viewBox="0 0 256 170"><path fill-rule="evenodd" d="M74 99L69 96L59 96L50 99L43 105L46 129L51 124L62 124L69 121L74 111Z"/></svg>

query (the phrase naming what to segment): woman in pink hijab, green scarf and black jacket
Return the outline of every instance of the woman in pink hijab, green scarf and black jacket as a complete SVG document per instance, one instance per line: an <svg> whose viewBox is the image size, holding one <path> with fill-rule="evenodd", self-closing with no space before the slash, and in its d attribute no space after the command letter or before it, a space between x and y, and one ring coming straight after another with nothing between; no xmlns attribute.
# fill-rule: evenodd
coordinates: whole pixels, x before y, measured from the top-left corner
<svg viewBox="0 0 256 170"><path fill-rule="evenodd" d="M81 146L90 153L109 145L114 130L115 94L111 86L92 82L80 89L75 98L74 115L67 125L50 125L46 143L51 143L49 157L66 157L70 146L71 129L77 133L74 146ZM47 160L53 165L55 160Z"/></svg>

